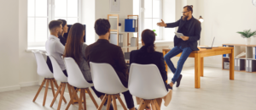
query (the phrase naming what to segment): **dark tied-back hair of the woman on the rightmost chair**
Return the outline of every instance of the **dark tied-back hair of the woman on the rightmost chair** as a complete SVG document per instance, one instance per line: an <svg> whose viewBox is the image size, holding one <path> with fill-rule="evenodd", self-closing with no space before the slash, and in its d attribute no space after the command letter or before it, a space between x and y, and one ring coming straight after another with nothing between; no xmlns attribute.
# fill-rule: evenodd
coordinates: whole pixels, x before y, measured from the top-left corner
<svg viewBox="0 0 256 110"><path fill-rule="evenodd" d="M153 30L143 30L142 33L142 40L145 44L145 47L147 47L147 52L154 52L154 40L155 40L155 34Z"/></svg>

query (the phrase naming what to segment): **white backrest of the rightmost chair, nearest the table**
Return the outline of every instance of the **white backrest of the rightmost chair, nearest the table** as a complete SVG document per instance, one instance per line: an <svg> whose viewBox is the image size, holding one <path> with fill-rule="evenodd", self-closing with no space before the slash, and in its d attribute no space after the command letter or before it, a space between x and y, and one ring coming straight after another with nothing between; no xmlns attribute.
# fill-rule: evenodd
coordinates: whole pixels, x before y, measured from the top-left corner
<svg viewBox="0 0 256 110"><path fill-rule="evenodd" d="M128 89L131 95L143 99L166 96L166 85L160 71L154 64L131 63Z"/></svg>

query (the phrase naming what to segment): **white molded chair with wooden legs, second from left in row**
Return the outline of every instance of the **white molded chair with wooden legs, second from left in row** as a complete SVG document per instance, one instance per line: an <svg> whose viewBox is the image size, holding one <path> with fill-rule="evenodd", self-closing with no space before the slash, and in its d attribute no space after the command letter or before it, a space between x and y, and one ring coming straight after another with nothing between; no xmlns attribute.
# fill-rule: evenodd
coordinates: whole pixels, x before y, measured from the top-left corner
<svg viewBox="0 0 256 110"><path fill-rule="evenodd" d="M61 70L60 65L57 63L55 58L53 58L51 55L48 55L48 56L49 56L50 62L52 63L55 80L61 81L61 85L58 87L58 90L56 92L57 94L55 94L55 97L52 100L52 102L50 104L50 107L53 106L57 96L60 93L61 97L60 97L59 105L58 105L58 108L57 108L57 110L60 110L62 100L64 100L64 102L67 103L66 100L65 100L65 97L64 97L64 91L65 91L66 85L67 85L67 88L68 88L69 96L70 96L70 98L72 97L71 96L72 95L71 86L67 83L67 76L63 73L63 71ZM61 90L61 88L62 88L62 90Z"/></svg>

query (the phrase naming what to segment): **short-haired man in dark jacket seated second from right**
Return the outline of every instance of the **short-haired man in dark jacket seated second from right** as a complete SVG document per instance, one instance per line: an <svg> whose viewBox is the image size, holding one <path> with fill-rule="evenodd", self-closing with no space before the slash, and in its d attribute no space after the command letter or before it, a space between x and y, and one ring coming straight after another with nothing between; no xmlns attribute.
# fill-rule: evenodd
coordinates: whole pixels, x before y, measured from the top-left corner
<svg viewBox="0 0 256 110"><path fill-rule="evenodd" d="M86 47L86 61L88 63L109 63L119 76L122 84L127 88L128 74L124 54L121 47L113 45L108 41L110 38L110 24L108 19L97 19L94 28L99 39ZM123 94L127 107L130 110L135 110L130 91L125 91Z"/></svg>

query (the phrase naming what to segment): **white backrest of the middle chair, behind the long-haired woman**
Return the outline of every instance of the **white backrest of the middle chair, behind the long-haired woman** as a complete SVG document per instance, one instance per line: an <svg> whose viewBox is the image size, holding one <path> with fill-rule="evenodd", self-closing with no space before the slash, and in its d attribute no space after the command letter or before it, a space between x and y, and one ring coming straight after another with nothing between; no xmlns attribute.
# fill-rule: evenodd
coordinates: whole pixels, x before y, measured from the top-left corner
<svg viewBox="0 0 256 110"><path fill-rule="evenodd" d="M84 79L84 75L79 69L79 65L73 60L73 58L64 58L67 69L67 81L70 85L78 88L88 88L93 86Z"/></svg>

